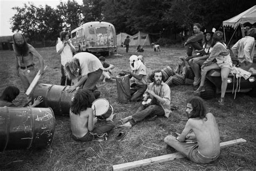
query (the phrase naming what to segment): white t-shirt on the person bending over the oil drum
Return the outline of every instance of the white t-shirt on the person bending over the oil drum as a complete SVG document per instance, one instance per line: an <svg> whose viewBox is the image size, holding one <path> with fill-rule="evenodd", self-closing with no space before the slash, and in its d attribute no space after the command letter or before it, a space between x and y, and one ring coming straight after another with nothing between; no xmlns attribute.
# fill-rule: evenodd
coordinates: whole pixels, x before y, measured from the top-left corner
<svg viewBox="0 0 256 171"><path fill-rule="evenodd" d="M91 53L80 52L75 54L74 58L77 58L80 63L81 75L86 76L87 74L103 69L100 60Z"/></svg>

